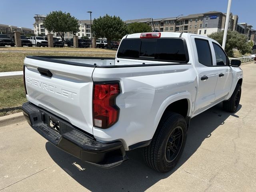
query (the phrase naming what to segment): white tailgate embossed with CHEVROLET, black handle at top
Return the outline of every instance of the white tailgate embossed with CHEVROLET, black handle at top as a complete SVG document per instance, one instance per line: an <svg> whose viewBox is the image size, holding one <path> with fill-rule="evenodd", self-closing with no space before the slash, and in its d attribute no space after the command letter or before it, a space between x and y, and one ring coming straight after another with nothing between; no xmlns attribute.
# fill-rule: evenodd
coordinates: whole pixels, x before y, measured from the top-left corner
<svg viewBox="0 0 256 192"><path fill-rule="evenodd" d="M94 66L68 65L32 58L25 58L24 64L28 101L93 134ZM52 76L43 74L42 70L40 74L40 68L49 70Z"/></svg>

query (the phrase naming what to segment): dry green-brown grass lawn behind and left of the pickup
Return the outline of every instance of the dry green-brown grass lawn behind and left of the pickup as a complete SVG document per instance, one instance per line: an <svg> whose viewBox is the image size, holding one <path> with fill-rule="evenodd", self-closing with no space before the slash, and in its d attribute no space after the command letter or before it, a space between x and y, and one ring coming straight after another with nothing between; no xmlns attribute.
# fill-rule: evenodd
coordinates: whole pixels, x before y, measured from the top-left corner
<svg viewBox="0 0 256 192"><path fill-rule="evenodd" d="M5 49L5 48L4 48ZM75 49L74 49L75 50ZM84 50L84 49L83 49ZM87 48L86 48L87 50ZM27 55L37 56L90 56L90 57L114 57L115 51L104 49L93 49L106 52L104 54L97 53L18 53L18 52L0 52L0 72L22 71L24 58ZM21 112L22 103L26 102L25 90L22 78L0 80L0 116Z"/></svg>

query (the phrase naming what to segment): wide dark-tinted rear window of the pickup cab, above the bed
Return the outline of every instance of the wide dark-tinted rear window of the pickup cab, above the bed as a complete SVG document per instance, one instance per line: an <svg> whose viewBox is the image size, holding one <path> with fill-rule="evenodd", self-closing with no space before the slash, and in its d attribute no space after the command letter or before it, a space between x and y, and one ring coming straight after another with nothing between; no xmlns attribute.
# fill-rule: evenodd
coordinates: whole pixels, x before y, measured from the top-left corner
<svg viewBox="0 0 256 192"><path fill-rule="evenodd" d="M124 39L119 46L117 57L167 62L189 60L186 44L182 38Z"/></svg>

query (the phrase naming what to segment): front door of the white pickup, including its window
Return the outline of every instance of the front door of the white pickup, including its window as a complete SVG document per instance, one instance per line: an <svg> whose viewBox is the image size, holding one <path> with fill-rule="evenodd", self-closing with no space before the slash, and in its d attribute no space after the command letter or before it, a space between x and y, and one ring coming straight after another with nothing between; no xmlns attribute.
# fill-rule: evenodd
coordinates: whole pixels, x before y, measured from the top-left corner
<svg viewBox="0 0 256 192"><path fill-rule="evenodd" d="M215 55L213 56L214 68L218 69L218 80L215 88L215 102L219 103L228 96L233 80L229 60L224 50L216 43L212 42Z"/></svg>

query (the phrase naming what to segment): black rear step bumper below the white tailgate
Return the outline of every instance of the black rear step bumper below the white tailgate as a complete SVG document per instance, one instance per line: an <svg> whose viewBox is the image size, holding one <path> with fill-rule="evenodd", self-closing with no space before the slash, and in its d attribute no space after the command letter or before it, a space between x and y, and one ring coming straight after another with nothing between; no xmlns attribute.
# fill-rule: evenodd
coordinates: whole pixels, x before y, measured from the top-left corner
<svg viewBox="0 0 256 192"><path fill-rule="evenodd" d="M121 141L98 142L90 134L82 132L69 122L29 102L22 105L22 112L36 132L58 148L82 161L111 168L121 164L126 159ZM58 130L50 127L50 117L60 125Z"/></svg>

